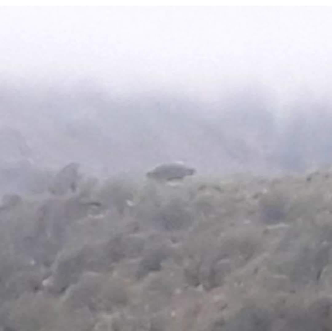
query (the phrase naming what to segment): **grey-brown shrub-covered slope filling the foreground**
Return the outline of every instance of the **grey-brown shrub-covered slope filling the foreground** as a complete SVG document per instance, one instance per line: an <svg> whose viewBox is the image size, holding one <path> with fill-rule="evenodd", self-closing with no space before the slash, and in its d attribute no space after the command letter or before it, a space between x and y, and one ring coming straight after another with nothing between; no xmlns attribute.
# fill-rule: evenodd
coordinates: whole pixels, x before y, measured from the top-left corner
<svg viewBox="0 0 332 331"><path fill-rule="evenodd" d="M332 330L332 174L6 195L2 331Z"/></svg>

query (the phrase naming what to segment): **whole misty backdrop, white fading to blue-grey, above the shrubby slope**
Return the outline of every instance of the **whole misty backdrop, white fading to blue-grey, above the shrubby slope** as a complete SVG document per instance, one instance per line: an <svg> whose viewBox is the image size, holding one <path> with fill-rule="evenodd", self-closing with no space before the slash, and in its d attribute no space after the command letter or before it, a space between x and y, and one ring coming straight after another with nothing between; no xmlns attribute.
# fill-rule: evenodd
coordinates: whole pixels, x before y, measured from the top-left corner
<svg viewBox="0 0 332 331"><path fill-rule="evenodd" d="M2 7L3 160L141 175L174 160L199 174L328 164L331 18L329 7Z"/></svg>

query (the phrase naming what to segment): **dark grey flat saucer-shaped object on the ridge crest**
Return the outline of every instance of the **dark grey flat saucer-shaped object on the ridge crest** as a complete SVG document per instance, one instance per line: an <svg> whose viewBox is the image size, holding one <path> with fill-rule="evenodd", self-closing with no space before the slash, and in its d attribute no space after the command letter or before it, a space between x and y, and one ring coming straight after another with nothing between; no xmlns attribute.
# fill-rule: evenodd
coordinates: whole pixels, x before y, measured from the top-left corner
<svg viewBox="0 0 332 331"><path fill-rule="evenodd" d="M157 181L181 180L196 173L194 168L180 162L162 164L146 173L146 177Z"/></svg>

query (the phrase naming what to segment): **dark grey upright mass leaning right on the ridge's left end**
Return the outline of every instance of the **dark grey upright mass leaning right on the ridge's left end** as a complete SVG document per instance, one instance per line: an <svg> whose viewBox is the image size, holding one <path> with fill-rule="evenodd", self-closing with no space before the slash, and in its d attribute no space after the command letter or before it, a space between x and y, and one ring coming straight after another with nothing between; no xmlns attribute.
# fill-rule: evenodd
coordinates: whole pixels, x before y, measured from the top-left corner
<svg viewBox="0 0 332 331"><path fill-rule="evenodd" d="M69 163L62 168L54 177L49 191L55 195L63 195L77 189L79 181L79 164L76 162Z"/></svg>

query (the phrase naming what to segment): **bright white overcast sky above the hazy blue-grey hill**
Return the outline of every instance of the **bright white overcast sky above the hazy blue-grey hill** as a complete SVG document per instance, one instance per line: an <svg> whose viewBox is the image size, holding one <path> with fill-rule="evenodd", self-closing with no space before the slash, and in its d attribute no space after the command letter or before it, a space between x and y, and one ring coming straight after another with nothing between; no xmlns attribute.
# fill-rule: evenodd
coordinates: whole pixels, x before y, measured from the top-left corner
<svg viewBox="0 0 332 331"><path fill-rule="evenodd" d="M332 7L0 7L0 79L330 93Z"/></svg>

